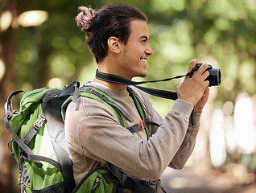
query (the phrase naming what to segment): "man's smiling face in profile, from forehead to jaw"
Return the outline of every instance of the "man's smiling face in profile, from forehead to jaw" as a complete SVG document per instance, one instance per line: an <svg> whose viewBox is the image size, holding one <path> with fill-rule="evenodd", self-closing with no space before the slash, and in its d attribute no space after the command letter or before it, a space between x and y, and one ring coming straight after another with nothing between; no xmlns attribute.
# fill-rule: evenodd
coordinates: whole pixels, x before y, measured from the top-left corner
<svg viewBox="0 0 256 193"><path fill-rule="evenodd" d="M148 40L147 22L140 19L132 20L130 37L126 45L121 45L122 77L131 80L135 76L147 76L147 59L149 55L153 55Z"/></svg>

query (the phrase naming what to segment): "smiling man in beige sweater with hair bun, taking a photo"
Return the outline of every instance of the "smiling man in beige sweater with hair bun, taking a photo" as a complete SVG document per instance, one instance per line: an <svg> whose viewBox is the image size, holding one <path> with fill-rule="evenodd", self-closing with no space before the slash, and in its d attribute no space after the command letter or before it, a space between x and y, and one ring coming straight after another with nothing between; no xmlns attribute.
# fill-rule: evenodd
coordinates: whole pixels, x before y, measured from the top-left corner
<svg viewBox="0 0 256 193"><path fill-rule="evenodd" d="M76 22L86 33L98 71L128 80L147 76L147 60L153 51L148 43L145 15L132 6L119 4L105 6L99 11L91 7L80 9L82 12L77 15ZM196 60L192 60L188 72L195 65ZM105 162L142 180L160 179L167 166L183 168L195 145L200 113L209 97L209 81L204 81L209 76L207 68L208 65L203 64L192 78L186 77L176 88L178 99L165 120L152 107L146 94L132 87L143 101L147 117L159 124L159 127L149 126L149 139L144 129L130 133L122 127L99 101L80 97L79 103L71 102L66 112L65 130L76 183L89 170L105 166ZM98 79L87 85L101 89L126 110L134 119L133 123L126 121L127 127L140 121L126 85ZM193 124L191 115L196 120Z"/></svg>

